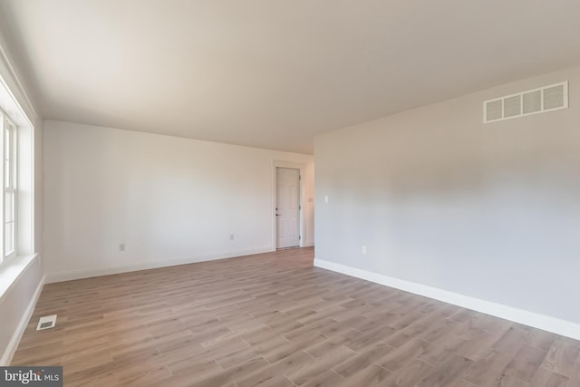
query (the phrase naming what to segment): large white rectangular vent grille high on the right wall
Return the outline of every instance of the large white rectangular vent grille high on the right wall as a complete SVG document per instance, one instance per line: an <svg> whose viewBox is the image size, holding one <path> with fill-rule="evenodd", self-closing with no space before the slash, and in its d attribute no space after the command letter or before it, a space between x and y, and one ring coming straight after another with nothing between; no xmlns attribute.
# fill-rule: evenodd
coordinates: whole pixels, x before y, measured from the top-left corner
<svg viewBox="0 0 580 387"><path fill-rule="evenodd" d="M483 102L483 121L493 122L568 107L568 82Z"/></svg>

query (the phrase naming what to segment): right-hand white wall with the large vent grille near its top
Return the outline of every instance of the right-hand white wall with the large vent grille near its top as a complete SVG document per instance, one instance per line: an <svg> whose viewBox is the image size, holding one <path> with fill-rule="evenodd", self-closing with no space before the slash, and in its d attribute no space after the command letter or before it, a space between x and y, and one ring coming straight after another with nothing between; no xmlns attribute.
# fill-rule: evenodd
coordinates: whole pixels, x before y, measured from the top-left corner
<svg viewBox="0 0 580 387"><path fill-rule="evenodd" d="M565 80L569 109L482 123ZM580 324L579 101L575 67L317 136L316 262Z"/></svg>

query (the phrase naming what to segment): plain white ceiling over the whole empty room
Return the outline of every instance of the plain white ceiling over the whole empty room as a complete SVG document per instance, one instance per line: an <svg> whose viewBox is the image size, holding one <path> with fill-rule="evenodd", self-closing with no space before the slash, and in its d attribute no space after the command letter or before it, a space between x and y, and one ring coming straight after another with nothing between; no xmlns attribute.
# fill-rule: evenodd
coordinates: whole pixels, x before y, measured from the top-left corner
<svg viewBox="0 0 580 387"><path fill-rule="evenodd" d="M0 0L0 15L44 118L301 153L317 132L580 63L577 0Z"/></svg>

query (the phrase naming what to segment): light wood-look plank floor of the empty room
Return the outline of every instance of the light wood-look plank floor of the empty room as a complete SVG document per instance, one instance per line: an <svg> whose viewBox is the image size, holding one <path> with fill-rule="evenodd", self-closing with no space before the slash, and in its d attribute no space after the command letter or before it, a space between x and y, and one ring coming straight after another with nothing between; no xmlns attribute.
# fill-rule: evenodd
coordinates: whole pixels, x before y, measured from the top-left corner
<svg viewBox="0 0 580 387"><path fill-rule="evenodd" d="M578 387L580 342L313 267L313 248L46 285L67 386ZM53 330L38 318L58 314Z"/></svg>

